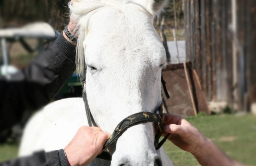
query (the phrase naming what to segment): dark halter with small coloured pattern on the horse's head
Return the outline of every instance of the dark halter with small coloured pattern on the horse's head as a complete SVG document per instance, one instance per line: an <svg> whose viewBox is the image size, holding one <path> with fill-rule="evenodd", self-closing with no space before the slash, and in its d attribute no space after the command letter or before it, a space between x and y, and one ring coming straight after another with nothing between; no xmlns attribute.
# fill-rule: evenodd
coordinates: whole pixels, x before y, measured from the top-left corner
<svg viewBox="0 0 256 166"><path fill-rule="evenodd" d="M84 69L83 69L83 77L82 77L82 82L83 82L83 101L85 103L85 111L86 111L86 117L88 120L89 127L92 127L92 124L96 126L95 121L93 120L88 100L87 100L87 95L86 95L86 90L85 90L85 84L86 84L86 64L84 60ZM170 98L168 91L165 86L165 81L163 79L163 75L161 76L161 82L163 84L164 88L164 93L167 98ZM118 138L130 127L141 124L141 123L147 123L147 122L155 122L157 124L157 134L155 135L155 149L158 150L161 148L161 146L164 144L164 142L167 140L167 138L170 136L170 134L167 134L161 142L159 142L159 139L161 135L163 134L163 123L162 123L162 118L163 118L163 104L162 106L158 107L156 110L157 113L150 113L150 112L140 112L136 113L133 115L128 116L124 120L122 120L117 127L115 128L115 131L111 135L111 137L108 139L108 141L105 143L103 146L103 149L108 148L108 146L112 145L112 143L116 142ZM97 156L97 158L104 159L104 160L109 160L111 161L112 156L110 155L109 152L103 151L100 155Z"/></svg>

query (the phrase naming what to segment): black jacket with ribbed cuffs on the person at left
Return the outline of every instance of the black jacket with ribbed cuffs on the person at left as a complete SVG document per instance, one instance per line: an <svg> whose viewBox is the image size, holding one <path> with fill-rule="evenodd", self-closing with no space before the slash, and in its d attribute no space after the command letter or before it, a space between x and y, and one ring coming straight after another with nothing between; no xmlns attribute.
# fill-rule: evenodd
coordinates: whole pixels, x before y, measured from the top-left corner
<svg viewBox="0 0 256 166"><path fill-rule="evenodd" d="M0 132L19 122L25 110L37 110L53 99L76 69L75 49L61 34L27 68L10 78L0 76ZM63 149L35 153L0 166L60 164L68 166Z"/></svg>

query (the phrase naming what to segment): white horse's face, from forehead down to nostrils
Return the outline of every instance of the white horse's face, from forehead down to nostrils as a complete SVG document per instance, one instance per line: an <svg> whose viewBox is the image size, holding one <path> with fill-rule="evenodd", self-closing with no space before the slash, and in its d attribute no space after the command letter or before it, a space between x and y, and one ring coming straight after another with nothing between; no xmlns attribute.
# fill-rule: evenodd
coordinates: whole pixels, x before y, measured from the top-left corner
<svg viewBox="0 0 256 166"><path fill-rule="evenodd" d="M74 3L73 11L81 2ZM79 41L87 65L86 92L92 116L103 131L112 133L125 117L154 112L160 106L166 56L152 25L153 5L150 11L149 4L141 0L104 2L89 16L88 12L80 17ZM152 123L129 128L109 148L111 165L161 165L154 134Z"/></svg>

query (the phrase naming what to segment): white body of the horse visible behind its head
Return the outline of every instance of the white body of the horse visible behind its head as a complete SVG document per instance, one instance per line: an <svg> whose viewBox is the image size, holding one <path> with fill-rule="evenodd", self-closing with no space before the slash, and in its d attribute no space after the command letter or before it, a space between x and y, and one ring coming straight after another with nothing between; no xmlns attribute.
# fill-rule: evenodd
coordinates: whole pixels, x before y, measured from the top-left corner
<svg viewBox="0 0 256 166"><path fill-rule="evenodd" d="M67 98L51 103L33 115L27 123L19 156L31 155L42 149L53 151L65 148L83 125L88 125L88 122L82 98ZM159 153L163 166L171 165L163 148ZM107 165L110 162L96 158L90 166Z"/></svg>

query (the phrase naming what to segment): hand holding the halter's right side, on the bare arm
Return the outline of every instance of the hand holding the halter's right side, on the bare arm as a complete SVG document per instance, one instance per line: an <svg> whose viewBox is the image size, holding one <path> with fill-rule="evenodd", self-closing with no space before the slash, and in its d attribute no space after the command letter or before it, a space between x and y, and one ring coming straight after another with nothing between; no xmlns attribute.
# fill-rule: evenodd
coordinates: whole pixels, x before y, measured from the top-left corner
<svg viewBox="0 0 256 166"><path fill-rule="evenodd" d="M168 139L180 149L193 155L197 155L207 141L197 128L178 115L164 114L163 125L164 136L171 133Z"/></svg>

